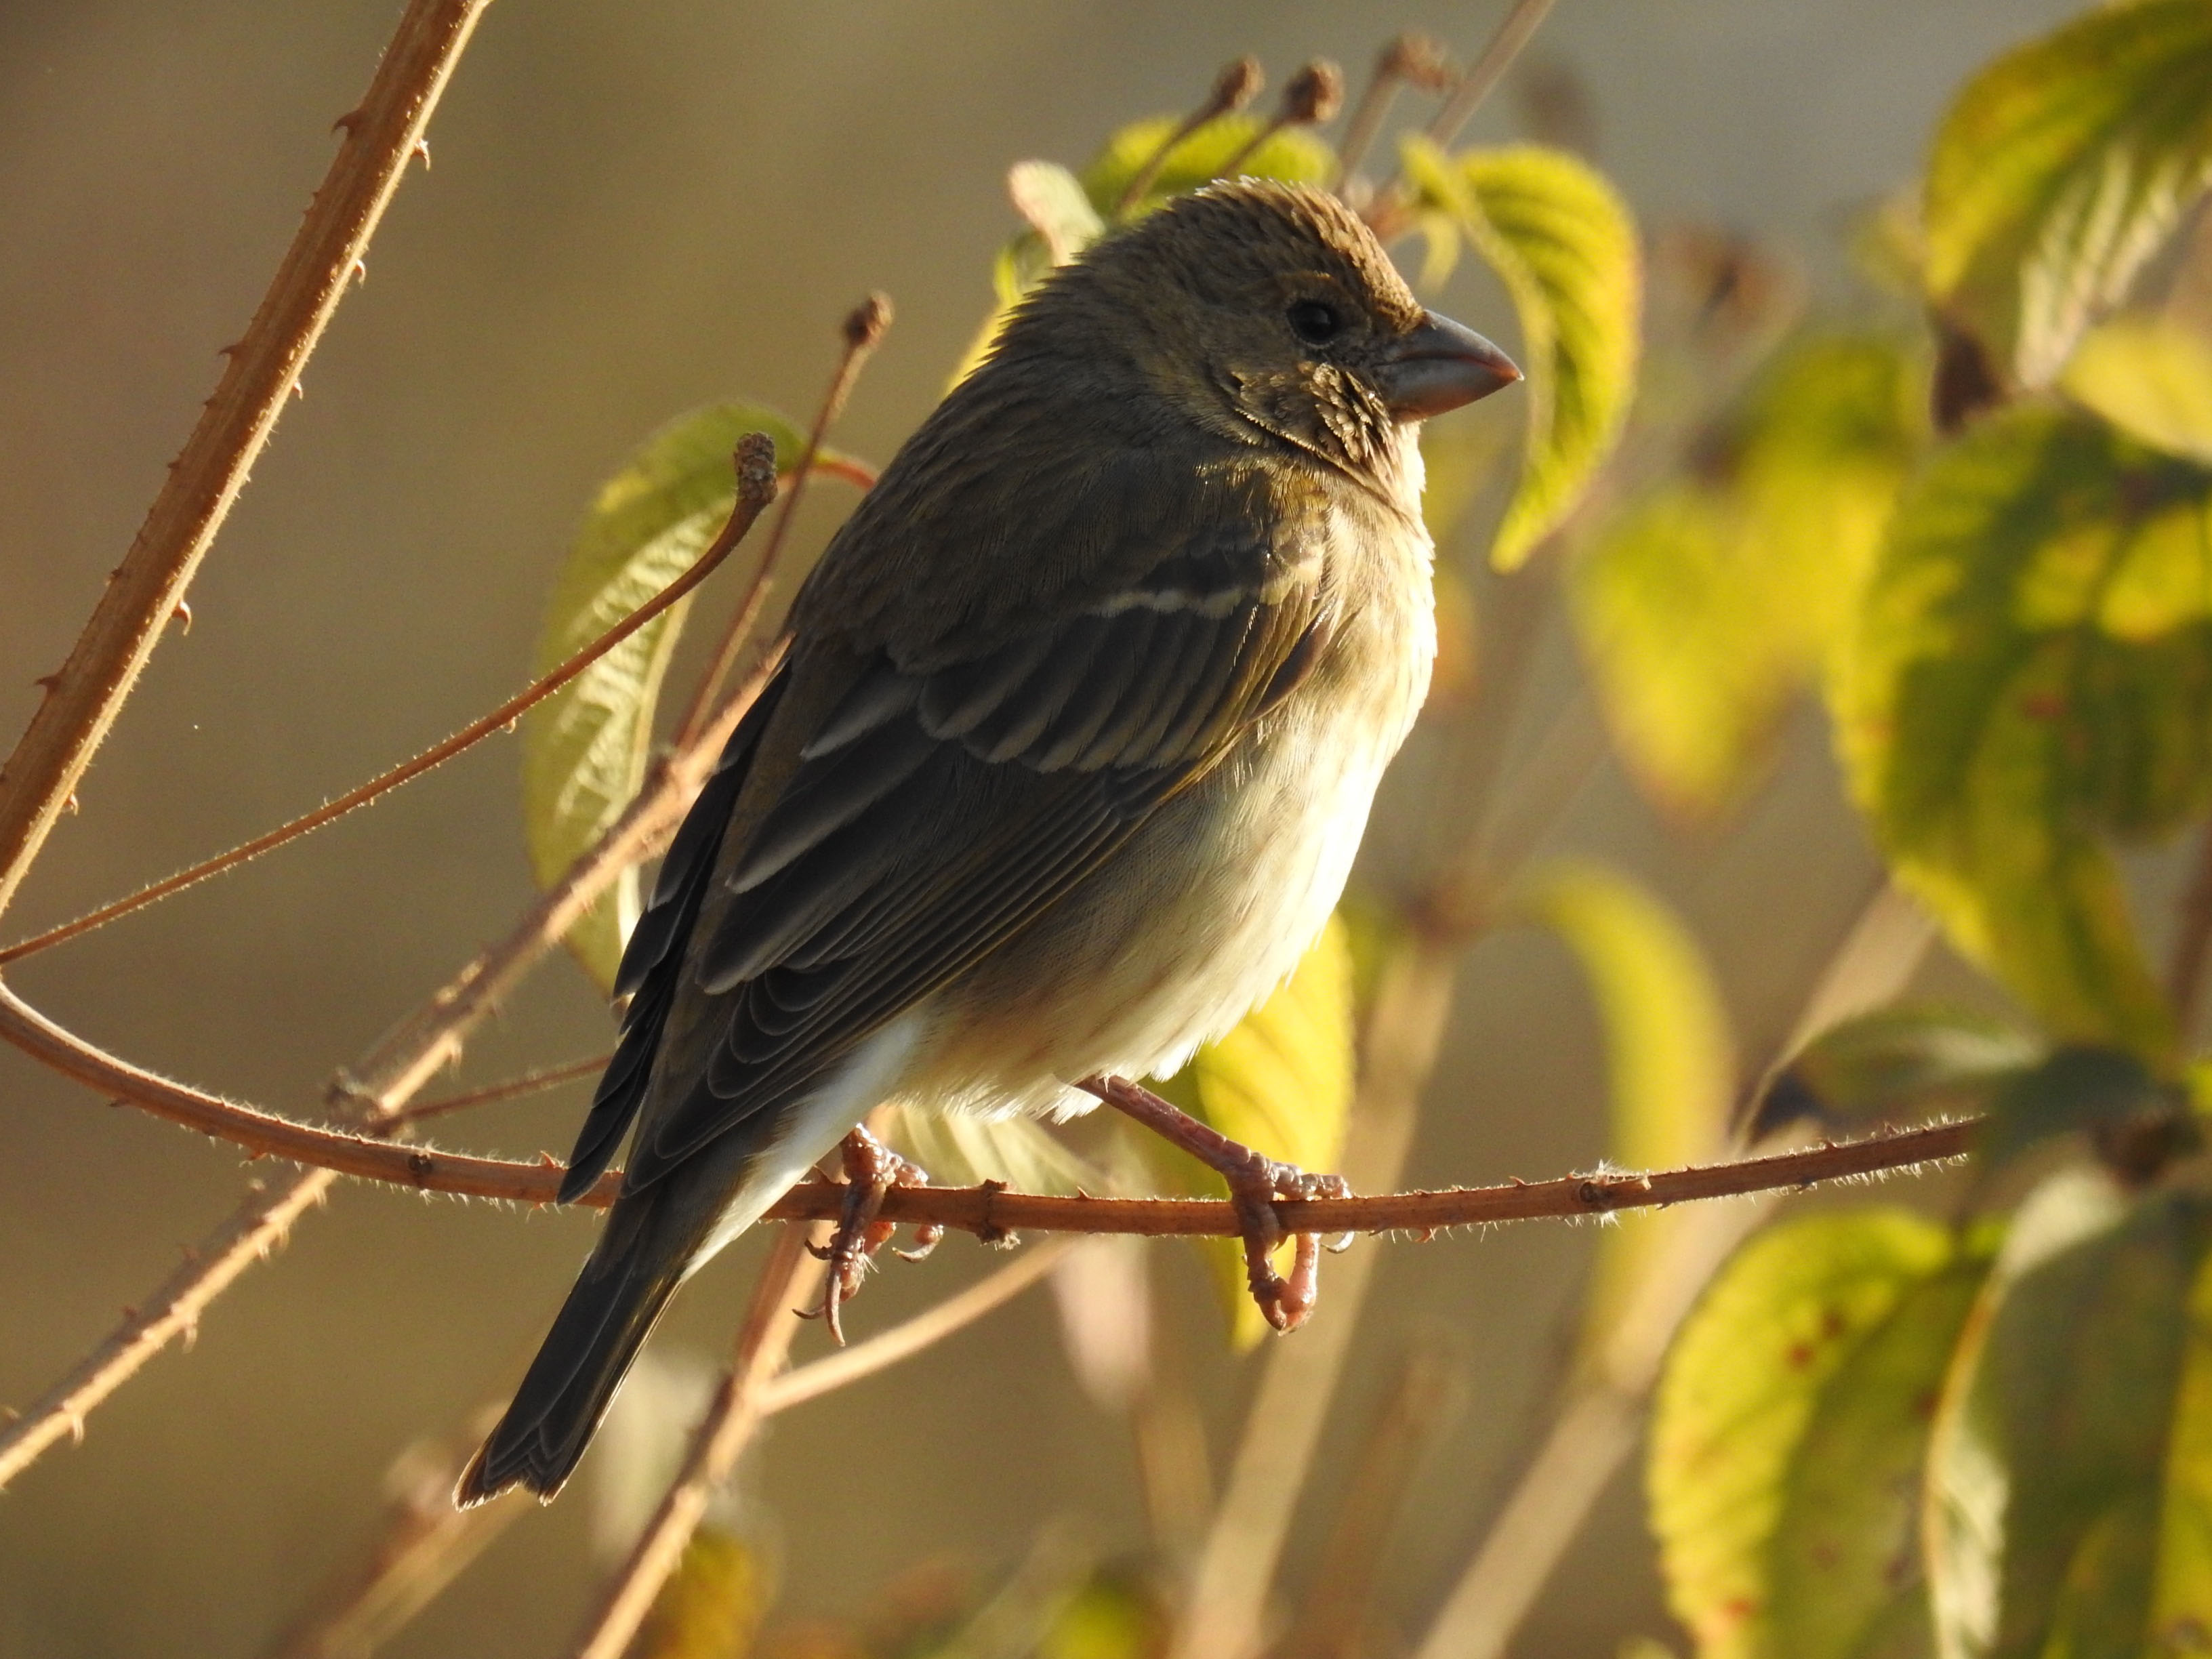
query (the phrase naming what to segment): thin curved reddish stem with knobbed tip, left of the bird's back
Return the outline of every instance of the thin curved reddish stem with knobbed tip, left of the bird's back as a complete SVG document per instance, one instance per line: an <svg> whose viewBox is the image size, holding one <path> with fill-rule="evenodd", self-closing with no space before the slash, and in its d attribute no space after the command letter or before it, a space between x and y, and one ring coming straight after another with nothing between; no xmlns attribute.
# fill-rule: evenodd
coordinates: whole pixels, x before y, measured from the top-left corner
<svg viewBox="0 0 2212 1659"><path fill-rule="evenodd" d="M473 743L480 743L493 732L513 726L524 712L529 712L546 697L557 692L571 679L575 679L595 661L599 661L599 657L604 657L608 650L619 646L633 633L637 633L657 615L668 611L668 606L672 606L686 593L706 582L714 573L714 566L719 566L726 557L730 557L730 551L741 540L745 540L745 531L752 529L752 522L761 515L761 509L768 507L768 502L772 502L776 495L776 449L765 434L752 431L745 434L743 440L739 440L737 471L739 471L737 507L732 509L730 520L721 526L721 533L706 549L706 553L701 553L699 560L684 575L679 575L657 595L646 599L646 604L637 606L637 611L626 615L622 622L617 622L604 635L593 639L588 646L577 650L560 668L540 679L533 679L529 686L524 686L520 692L515 692L504 703L493 708L489 714L469 721L442 743L434 743L431 748L416 754L411 761L403 761L389 772L380 772L367 783L347 790L336 801L325 801L314 812L301 814L290 823L281 823L274 830L268 830L254 836L252 841L232 847L230 852L217 854L215 858L206 858L192 865L190 869L179 869L175 876L164 876L150 887L139 887L135 894L117 898L113 905L102 905L100 909L80 916L73 922L49 927L44 933L9 945L7 949L0 949L0 967L18 962L24 956L44 951L53 945L62 945L64 940L73 940L80 933L91 933L95 927L106 927L117 916L128 916L135 909L144 909L146 905L153 905L161 898L168 898L175 891L208 880L210 876L221 876L226 869L237 869L246 860L259 858L261 854L272 852L288 841L299 841L301 836L312 834L314 830L321 830L327 823L336 823L347 812L354 812L385 794L392 794L392 790L400 787L403 783L414 783L418 776L438 765L445 765ZM792 484L792 495L796 493L799 487Z"/></svg>

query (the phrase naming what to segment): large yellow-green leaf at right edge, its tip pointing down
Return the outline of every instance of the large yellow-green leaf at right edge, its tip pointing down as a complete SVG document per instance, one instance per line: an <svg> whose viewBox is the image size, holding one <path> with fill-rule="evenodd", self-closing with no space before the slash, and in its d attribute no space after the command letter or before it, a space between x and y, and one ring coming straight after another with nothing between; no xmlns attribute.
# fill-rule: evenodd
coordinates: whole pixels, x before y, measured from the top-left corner
<svg viewBox="0 0 2212 1659"><path fill-rule="evenodd" d="M2059 1040L2168 1071L2106 836L2212 794L2212 473L2101 422L1984 418L1907 489L1834 677L1898 876Z"/></svg>

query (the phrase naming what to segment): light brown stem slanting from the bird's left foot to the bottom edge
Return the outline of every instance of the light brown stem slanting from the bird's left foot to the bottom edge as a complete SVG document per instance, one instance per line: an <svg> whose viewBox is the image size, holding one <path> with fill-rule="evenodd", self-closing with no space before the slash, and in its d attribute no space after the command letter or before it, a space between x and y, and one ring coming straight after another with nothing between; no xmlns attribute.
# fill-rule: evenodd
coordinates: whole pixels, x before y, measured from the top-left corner
<svg viewBox="0 0 2212 1659"><path fill-rule="evenodd" d="M799 1334L799 1314L825 1263L807 1252L807 1228L785 1228L761 1267L752 1307L737 1334L730 1374L714 1391L706 1420L692 1436L690 1451L675 1484L661 1498L646 1531L630 1548L606 1597L584 1624L577 1659L619 1659L653 1610L653 1597L675 1571L714 1489L730 1478L739 1453L761 1425L761 1400L770 1378L783 1369Z"/></svg>

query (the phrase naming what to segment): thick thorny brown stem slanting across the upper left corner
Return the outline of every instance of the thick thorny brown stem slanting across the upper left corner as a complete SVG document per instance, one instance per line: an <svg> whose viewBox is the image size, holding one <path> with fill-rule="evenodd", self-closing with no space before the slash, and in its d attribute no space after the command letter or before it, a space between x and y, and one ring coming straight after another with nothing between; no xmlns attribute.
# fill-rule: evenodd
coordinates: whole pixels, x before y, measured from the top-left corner
<svg viewBox="0 0 2212 1659"><path fill-rule="evenodd" d="M0 911L75 794L93 750L153 657L246 476L268 445L307 356L369 250L407 159L489 0L414 0L367 97L338 119L345 139L314 192L215 396L170 462L124 562L69 661L0 770Z"/></svg>

